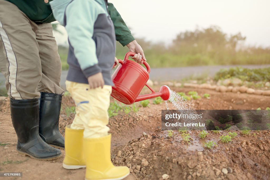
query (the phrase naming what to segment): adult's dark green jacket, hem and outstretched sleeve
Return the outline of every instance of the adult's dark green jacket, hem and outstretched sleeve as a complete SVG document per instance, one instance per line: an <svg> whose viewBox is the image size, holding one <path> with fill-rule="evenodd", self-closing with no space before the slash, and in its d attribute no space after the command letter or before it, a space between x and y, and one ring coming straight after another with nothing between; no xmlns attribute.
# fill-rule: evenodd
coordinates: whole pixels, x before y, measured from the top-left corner
<svg viewBox="0 0 270 180"><path fill-rule="evenodd" d="M51 23L55 21L49 3L44 0L6 0L15 4L29 19L35 23ZM126 23L112 3L108 3L108 11L114 24L116 40L123 46L134 40Z"/></svg>

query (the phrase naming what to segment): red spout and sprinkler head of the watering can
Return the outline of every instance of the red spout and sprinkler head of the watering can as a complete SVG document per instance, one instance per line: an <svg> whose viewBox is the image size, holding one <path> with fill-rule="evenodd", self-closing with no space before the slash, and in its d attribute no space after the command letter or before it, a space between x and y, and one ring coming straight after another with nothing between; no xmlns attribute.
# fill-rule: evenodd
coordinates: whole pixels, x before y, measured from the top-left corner
<svg viewBox="0 0 270 180"><path fill-rule="evenodd" d="M152 88L149 87L149 85L146 84L146 86L152 91L151 94L145 94L145 95L139 95L135 102L143 101L146 99L161 97L164 101L167 101L171 97L171 90L168 86L163 85L160 87L159 92L155 92Z"/></svg>

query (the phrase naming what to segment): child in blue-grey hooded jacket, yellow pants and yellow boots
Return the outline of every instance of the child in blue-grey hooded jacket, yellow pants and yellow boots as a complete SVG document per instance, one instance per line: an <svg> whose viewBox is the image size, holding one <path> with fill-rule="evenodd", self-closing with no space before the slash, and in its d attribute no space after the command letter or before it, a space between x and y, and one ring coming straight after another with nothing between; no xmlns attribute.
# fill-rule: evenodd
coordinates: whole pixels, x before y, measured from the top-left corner
<svg viewBox="0 0 270 180"><path fill-rule="evenodd" d="M130 171L112 164L106 126L116 41L107 1L54 0L50 5L68 32L66 88L76 103L76 116L65 130L63 167L86 167L85 179L123 179Z"/></svg>

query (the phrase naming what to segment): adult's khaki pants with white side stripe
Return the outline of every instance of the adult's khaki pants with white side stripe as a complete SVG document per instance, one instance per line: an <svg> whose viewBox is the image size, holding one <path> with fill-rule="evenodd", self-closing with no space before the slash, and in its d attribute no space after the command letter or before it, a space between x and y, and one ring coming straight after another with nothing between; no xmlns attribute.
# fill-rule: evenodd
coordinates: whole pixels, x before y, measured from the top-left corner
<svg viewBox="0 0 270 180"><path fill-rule="evenodd" d="M64 94L50 23L36 24L14 4L0 0L0 36L0 68L10 98L34 99L39 92Z"/></svg>

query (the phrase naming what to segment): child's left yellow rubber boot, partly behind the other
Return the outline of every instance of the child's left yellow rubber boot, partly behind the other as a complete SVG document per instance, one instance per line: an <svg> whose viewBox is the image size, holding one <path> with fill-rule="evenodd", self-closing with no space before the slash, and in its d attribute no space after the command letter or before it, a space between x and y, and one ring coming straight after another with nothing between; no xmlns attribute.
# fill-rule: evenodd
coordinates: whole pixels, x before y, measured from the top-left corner
<svg viewBox="0 0 270 180"><path fill-rule="evenodd" d="M65 129L65 151L63 161L65 169L85 168L83 155L83 129L70 129L70 125Z"/></svg>

